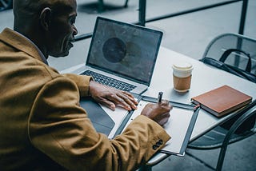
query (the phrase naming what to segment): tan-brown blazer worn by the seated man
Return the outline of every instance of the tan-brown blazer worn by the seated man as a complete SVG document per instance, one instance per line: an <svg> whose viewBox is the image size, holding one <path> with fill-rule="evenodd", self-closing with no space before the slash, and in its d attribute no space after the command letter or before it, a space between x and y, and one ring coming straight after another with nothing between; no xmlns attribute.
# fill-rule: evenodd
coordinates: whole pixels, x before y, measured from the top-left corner
<svg viewBox="0 0 256 171"><path fill-rule="evenodd" d="M58 74L31 42L3 30L0 170L134 170L170 139L144 116L114 140L97 133L79 106L89 82L90 77Z"/></svg>

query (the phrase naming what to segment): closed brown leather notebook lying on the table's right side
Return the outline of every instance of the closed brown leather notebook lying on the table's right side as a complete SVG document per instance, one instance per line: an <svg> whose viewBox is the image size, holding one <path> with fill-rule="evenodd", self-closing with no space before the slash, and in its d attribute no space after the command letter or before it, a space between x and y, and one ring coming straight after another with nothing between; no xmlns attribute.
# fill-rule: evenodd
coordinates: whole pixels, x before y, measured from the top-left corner
<svg viewBox="0 0 256 171"><path fill-rule="evenodd" d="M200 105L202 109L214 114L216 117L223 117L249 104L252 101L252 97L238 91L238 89L223 85L217 89L212 89L206 93L192 97L191 101L196 105Z"/></svg>

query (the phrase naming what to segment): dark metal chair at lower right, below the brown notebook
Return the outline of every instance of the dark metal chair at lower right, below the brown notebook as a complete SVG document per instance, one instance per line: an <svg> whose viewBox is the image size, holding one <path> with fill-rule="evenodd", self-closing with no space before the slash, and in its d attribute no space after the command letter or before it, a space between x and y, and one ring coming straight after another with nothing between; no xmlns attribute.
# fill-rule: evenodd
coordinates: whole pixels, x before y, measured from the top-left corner
<svg viewBox="0 0 256 171"><path fill-rule="evenodd" d="M244 112L246 110L246 112ZM251 105L247 106L246 109L243 109L240 113L242 116L238 118L234 122L234 124L230 127L229 130L223 129L218 126L214 130L206 133L202 137L199 137L197 140L192 141L187 148L189 149L199 149L199 150L207 150L207 149L217 149L221 148L218 154L218 163L216 170L222 170L222 165L224 162L224 157L226 154L227 145L235 143L237 141L241 141L246 137L250 137L256 133L256 125L250 130L247 130L244 133L235 133L239 127L245 123L245 121L251 120L252 118L256 118L256 101L254 101ZM189 153L190 156L193 156ZM203 162L203 161L202 161ZM210 165L206 164L211 169Z"/></svg>

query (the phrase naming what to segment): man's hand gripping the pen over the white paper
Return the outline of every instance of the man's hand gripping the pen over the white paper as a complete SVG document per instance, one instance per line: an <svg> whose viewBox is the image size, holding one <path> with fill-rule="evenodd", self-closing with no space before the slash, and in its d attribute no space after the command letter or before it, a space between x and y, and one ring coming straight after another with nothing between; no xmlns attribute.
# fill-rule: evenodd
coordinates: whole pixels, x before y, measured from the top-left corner
<svg viewBox="0 0 256 171"><path fill-rule="evenodd" d="M173 107L169 101L162 100L160 103L149 103L142 109L142 115L156 121L159 125L165 125L170 117L170 109Z"/></svg>

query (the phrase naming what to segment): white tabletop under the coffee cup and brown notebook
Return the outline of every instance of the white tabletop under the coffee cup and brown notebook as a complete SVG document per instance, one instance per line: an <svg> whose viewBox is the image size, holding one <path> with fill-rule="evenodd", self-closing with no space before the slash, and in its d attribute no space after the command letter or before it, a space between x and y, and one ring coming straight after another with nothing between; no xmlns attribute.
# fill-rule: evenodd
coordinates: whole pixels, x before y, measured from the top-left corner
<svg viewBox="0 0 256 171"><path fill-rule="evenodd" d="M171 66L177 61L190 62L194 66L190 91L187 93L177 93L173 89L174 85ZM64 70L62 73L74 72L74 70L78 69L78 67L82 65L84 64ZM215 89L221 85L230 85L234 89L239 89L243 93L252 96L253 100L256 98L256 84L253 82L249 82L243 78L238 78L233 74L218 70L211 66L206 66L202 62L174 52L173 50L160 47L150 87L145 93L143 93L143 95L158 97L158 92L162 91L163 98L165 99L182 103L190 103L191 97L205 93L206 91ZM220 125L222 122L232 117L232 115L234 115L234 113L231 113L226 117L217 118L201 109L198 113L198 119L194 125L190 141L202 136L210 129L213 129L216 125ZM157 153L157 155L152 157L146 165L156 165L168 156L169 155L165 153Z"/></svg>

